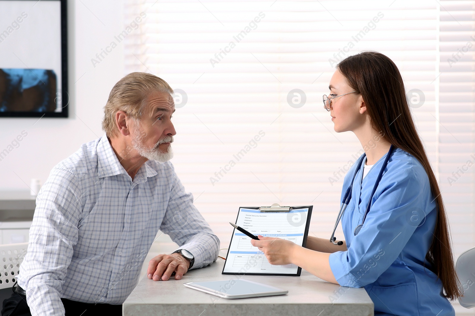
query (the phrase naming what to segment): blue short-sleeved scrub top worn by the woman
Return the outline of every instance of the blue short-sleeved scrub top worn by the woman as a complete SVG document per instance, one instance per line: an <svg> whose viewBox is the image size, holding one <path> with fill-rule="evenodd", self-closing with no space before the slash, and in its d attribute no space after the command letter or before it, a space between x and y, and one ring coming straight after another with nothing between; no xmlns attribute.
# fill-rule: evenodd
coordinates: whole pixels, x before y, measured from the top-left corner
<svg viewBox="0 0 475 316"><path fill-rule="evenodd" d="M399 148L393 151L364 225L358 235L353 233L363 221L385 158L364 179L362 166L356 175L342 217L348 250L330 254L333 275L342 287L364 287L374 303L374 315L454 316L454 308L442 295L442 283L426 260L437 204L427 173L414 156ZM355 170L356 163L345 176L341 200Z"/></svg>

